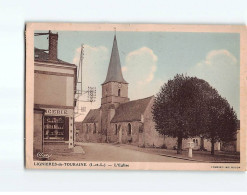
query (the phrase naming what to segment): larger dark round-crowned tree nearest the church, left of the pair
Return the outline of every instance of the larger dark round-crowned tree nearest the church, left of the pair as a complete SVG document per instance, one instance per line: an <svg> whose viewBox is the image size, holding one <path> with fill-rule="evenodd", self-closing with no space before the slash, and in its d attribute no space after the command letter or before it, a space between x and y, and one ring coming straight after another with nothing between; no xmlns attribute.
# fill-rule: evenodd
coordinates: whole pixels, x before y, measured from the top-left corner
<svg viewBox="0 0 247 195"><path fill-rule="evenodd" d="M156 130L177 138L178 154L182 152L183 139L200 134L205 118L202 112L205 104L201 100L210 90L210 86L201 79L176 75L155 96L152 114Z"/></svg>

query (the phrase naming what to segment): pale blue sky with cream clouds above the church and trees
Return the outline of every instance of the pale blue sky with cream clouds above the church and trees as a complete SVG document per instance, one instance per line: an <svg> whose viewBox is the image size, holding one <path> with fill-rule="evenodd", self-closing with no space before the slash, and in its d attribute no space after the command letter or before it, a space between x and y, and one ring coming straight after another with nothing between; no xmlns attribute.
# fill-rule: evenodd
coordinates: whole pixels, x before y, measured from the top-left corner
<svg viewBox="0 0 247 195"><path fill-rule="evenodd" d="M40 31L39 31L40 32ZM226 98L240 118L240 35L238 33L116 32L130 100L155 95L176 74L206 80ZM78 65L84 44L83 89L96 87L96 101L80 102L86 112L101 104L101 84L110 61L114 32L58 31L58 58ZM34 45L48 48L47 36ZM81 97L87 100L87 95Z"/></svg>

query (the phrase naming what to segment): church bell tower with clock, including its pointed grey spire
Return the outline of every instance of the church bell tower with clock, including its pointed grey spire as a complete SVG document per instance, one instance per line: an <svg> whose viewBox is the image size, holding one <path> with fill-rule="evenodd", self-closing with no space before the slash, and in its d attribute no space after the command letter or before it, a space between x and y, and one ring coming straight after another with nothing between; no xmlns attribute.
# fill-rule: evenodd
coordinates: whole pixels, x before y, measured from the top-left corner
<svg viewBox="0 0 247 195"><path fill-rule="evenodd" d="M101 106L102 108L117 107L127 101L129 101L128 83L123 78L115 35L106 80L102 84Z"/></svg>

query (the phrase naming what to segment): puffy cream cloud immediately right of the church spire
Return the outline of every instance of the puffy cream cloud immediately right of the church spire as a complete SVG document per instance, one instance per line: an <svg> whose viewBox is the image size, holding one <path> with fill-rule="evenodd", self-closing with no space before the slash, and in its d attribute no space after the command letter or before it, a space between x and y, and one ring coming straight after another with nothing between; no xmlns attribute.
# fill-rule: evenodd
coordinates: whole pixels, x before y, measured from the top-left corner
<svg viewBox="0 0 247 195"><path fill-rule="evenodd" d="M164 82L155 78L157 61L158 57L147 47L127 54L122 71L125 80L129 83L131 100L145 98L158 92Z"/></svg>

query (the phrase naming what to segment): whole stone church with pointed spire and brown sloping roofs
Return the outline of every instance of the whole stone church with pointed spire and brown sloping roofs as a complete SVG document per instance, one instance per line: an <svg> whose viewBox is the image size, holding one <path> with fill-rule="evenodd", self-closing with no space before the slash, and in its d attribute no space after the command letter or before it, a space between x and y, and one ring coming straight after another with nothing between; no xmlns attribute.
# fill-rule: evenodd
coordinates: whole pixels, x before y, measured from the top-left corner
<svg viewBox="0 0 247 195"><path fill-rule="evenodd" d="M161 135L155 129L151 112L153 103L154 96L130 101L115 35L107 76L102 83L101 107L91 109L82 123L77 123L76 141L175 149L177 139ZM183 140L183 148L187 148L188 141ZM194 142L194 149L203 144L210 150L211 144L207 140L198 137L190 141ZM216 143L215 150L220 150L219 143Z"/></svg>

